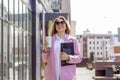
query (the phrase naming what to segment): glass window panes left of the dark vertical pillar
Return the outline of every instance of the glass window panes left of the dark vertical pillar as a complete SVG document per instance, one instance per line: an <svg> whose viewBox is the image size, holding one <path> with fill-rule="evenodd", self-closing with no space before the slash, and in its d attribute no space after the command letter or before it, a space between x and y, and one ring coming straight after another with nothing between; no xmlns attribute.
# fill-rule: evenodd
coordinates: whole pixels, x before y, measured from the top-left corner
<svg viewBox="0 0 120 80"><path fill-rule="evenodd" d="M30 80L32 12L21 0L0 0L0 79Z"/></svg>

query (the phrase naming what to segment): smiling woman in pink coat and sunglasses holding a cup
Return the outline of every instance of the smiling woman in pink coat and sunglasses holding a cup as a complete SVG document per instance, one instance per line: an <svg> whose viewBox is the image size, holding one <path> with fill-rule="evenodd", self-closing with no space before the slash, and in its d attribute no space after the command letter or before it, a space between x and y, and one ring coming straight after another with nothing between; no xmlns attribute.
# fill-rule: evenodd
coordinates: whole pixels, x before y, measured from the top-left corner
<svg viewBox="0 0 120 80"><path fill-rule="evenodd" d="M80 51L78 49L77 40L70 36L70 25L63 16L57 17L53 22L51 29L52 47L45 48L42 53L43 62L47 63L45 68L46 80L76 80L76 65L82 61ZM74 55L68 55L61 52L61 43L73 42ZM61 66L61 60L73 65Z"/></svg>

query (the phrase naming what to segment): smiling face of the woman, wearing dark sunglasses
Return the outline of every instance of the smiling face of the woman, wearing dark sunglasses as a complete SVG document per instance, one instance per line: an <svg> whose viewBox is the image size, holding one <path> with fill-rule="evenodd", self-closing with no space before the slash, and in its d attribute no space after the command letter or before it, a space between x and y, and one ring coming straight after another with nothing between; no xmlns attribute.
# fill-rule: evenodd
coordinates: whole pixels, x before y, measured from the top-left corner
<svg viewBox="0 0 120 80"><path fill-rule="evenodd" d="M66 30L66 24L65 21L63 19L57 19L55 21L55 25L56 25L56 30L58 33L63 33Z"/></svg>

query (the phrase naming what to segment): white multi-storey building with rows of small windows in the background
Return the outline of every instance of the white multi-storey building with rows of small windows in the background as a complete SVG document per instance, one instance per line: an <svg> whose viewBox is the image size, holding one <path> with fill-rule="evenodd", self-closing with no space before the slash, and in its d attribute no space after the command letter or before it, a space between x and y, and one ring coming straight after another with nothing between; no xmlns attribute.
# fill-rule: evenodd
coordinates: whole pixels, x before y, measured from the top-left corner
<svg viewBox="0 0 120 80"><path fill-rule="evenodd" d="M94 60L111 59L111 46L118 42L118 35L108 34L91 34L86 30L83 35L77 35L80 43L80 50L83 58L90 58L94 53Z"/></svg>

